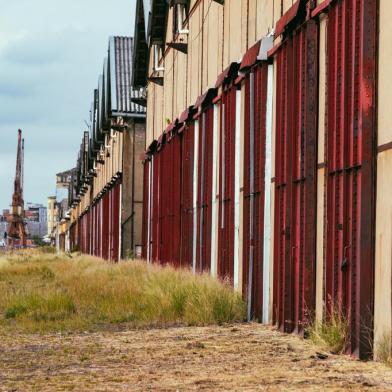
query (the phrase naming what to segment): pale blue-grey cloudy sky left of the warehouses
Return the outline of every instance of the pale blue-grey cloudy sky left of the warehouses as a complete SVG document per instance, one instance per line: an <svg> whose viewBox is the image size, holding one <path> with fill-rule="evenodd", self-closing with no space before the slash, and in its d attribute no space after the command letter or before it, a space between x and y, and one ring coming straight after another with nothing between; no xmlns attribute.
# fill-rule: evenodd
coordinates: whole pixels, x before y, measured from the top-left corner
<svg viewBox="0 0 392 392"><path fill-rule="evenodd" d="M46 204L76 164L111 35L133 35L136 0L0 0L0 209L11 201L17 130L25 202Z"/></svg>

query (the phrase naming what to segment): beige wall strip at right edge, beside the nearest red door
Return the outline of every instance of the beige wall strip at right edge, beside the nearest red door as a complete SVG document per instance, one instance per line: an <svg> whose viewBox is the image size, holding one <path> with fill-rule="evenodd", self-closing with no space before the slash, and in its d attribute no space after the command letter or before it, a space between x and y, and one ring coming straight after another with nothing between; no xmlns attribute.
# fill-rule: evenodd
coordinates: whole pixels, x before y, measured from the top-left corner
<svg viewBox="0 0 392 392"><path fill-rule="evenodd" d="M392 278L392 25L389 16L392 2L380 0L379 64L378 64L378 158L376 212L376 271L375 271L375 340L392 333L391 278Z"/></svg>

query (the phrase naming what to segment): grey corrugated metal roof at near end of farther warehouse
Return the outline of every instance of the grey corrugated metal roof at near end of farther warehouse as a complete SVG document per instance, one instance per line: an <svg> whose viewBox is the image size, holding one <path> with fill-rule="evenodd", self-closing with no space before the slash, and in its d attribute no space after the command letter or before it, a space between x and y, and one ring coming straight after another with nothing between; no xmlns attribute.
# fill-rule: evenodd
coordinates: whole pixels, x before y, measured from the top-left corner
<svg viewBox="0 0 392 392"><path fill-rule="evenodd" d="M132 102L143 92L132 88L133 38L111 37L109 40L109 116L144 117L146 108Z"/></svg>

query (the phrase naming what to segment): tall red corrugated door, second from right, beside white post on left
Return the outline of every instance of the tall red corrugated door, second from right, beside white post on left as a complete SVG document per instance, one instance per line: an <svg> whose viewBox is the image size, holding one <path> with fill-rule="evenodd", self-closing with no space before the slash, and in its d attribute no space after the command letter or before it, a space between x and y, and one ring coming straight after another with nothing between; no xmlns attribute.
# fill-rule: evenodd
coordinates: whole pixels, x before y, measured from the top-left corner
<svg viewBox="0 0 392 392"><path fill-rule="evenodd" d="M310 20L276 53L274 316L302 332L315 307L318 25Z"/></svg>

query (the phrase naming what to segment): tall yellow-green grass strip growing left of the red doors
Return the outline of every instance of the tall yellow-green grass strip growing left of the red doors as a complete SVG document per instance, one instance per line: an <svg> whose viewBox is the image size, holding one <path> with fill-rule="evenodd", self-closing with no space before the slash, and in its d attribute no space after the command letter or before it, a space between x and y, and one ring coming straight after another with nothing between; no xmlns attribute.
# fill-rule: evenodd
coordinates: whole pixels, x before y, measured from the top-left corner
<svg viewBox="0 0 392 392"><path fill-rule="evenodd" d="M21 252L0 258L0 328L83 331L242 321L245 306L227 284L190 271Z"/></svg>

